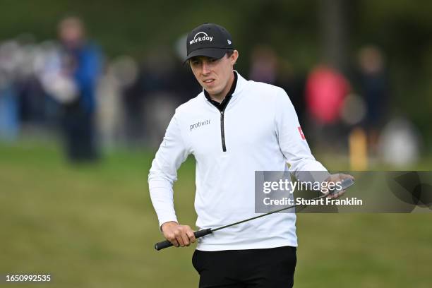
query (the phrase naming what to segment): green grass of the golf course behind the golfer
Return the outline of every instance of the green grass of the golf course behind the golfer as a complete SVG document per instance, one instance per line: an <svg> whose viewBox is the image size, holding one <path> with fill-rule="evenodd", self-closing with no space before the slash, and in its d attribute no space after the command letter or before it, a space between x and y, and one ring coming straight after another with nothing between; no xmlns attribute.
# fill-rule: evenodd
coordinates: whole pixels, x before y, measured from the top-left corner
<svg viewBox="0 0 432 288"><path fill-rule="evenodd" d="M0 145L0 274L50 273L47 287L197 287L192 247L153 248L162 235L148 196L152 157L118 151L71 166L49 143ZM191 226L194 187L189 159L174 190ZM430 287L431 220L299 214L295 287Z"/></svg>

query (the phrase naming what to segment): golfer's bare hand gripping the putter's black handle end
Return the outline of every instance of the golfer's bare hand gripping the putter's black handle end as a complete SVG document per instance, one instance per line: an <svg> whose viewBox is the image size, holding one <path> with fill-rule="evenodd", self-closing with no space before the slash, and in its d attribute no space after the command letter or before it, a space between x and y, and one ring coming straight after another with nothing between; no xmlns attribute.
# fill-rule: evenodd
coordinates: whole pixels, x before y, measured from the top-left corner
<svg viewBox="0 0 432 288"><path fill-rule="evenodd" d="M162 224L161 229L165 239L176 247L189 246L196 241L193 230L188 225L181 225L174 221L165 222Z"/></svg>

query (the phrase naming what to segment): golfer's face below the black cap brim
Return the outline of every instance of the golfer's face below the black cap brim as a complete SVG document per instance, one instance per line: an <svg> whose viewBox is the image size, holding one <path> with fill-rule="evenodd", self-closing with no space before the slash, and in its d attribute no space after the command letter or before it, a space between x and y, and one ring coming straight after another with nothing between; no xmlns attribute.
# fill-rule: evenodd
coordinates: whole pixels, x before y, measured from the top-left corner
<svg viewBox="0 0 432 288"><path fill-rule="evenodd" d="M221 95L229 91L227 87L232 76L232 68L236 55L221 59L213 59L206 56L196 56L190 61L193 75L196 80L210 95Z"/></svg>

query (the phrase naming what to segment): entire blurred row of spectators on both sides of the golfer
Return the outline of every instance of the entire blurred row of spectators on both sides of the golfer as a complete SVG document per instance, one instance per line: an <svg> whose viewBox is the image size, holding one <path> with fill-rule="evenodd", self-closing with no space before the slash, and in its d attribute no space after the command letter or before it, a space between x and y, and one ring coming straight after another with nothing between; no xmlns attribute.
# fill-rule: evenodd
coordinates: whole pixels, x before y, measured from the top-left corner
<svg viewBox="0 0 432 288"><path fill-rule="evenodd" d="M101 147L157 147L174 109L201 90L182 65L183 38L176 51L158 47L138 63L131 56L104 57L80 18L64 18L57 30L58 40L37 43L20 35L0 42L0 140L28 131L61 135L72 161L97 160ZM415 160L415 128L407 119L390 121L385 55L362 47L354 62L349 71L321 63L298 73L260 45L249 71L240 72L287 91L312 146L348 149L354 162L368 155L391 160L401 151ZM359 165L354 168L366 169Z"/></svg>

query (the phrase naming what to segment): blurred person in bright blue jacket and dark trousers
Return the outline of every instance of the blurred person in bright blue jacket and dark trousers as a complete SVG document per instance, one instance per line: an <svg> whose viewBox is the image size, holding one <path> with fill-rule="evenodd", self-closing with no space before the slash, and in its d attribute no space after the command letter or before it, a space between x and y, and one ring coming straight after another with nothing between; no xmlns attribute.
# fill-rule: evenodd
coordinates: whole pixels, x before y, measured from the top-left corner
<svg viewBox="0 0 432 288"><path fill-rule="evenodd" d="M73 83L75 95L64 102L63 128L70 160L95 160L95 90L101 72L99 47L85 39L82 20L67 17L59 23L62 73Z"/></svg>

